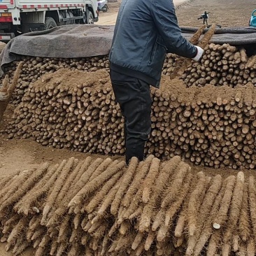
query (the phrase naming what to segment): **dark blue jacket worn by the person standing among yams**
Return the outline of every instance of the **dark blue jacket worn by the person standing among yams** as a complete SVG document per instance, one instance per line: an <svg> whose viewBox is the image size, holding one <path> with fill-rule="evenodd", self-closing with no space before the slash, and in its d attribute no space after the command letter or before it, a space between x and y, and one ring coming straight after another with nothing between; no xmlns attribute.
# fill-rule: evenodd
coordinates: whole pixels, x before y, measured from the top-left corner
<svg viewBox="0 0 256 256"><path fill-rule="evenodd" d="M197 48L181 35L173 1L122 0L109 56L111 69L159 87L166 52L197 55Z"/></svg>

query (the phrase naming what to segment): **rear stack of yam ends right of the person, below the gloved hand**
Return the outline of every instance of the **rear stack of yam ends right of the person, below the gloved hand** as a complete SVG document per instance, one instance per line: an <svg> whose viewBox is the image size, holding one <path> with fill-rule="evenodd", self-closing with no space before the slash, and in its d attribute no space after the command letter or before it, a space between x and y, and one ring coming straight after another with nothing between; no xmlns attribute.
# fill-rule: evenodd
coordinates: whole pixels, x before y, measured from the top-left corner
<svg viewBox="0 0 256 256"><path fill-rule="evenodd" d="M236 87L248 82L256 85L256 55L248 57L243 46L211 43L204 50L201 61L192 62L180 74L187 87L204 87L208 84ZM172 75L177 58L173 54L167 55L163 74Z"/></svg>

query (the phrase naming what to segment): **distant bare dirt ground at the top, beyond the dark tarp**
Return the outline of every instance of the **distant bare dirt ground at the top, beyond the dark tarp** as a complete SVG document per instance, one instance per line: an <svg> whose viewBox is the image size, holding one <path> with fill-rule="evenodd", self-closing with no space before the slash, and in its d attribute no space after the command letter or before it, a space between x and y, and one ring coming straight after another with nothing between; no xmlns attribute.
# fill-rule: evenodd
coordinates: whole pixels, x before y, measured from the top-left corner
<svg viewBox="0 0 256 256"><path fill-rule="evenodd" d="M203 23L197 20L204 11L210 12L208 24L219 24L222 27L247 27L252 11L256 8L253 0L173 0L175 6L182 7L176 10L178 24L180 27L199 27ZM115 24L118 14L117 3L108 3L107 13L99 13L99 22L97 24Z"/></svg>

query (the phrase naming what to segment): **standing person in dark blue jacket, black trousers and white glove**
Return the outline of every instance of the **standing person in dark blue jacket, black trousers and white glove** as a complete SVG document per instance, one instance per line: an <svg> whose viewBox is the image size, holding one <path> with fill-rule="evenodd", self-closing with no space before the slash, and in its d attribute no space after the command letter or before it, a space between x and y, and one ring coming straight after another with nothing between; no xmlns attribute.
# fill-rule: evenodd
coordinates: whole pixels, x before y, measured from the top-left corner
<svg viewBox="0 0 256 256"><path fill-rule="evenodd" d="M159 88L166 52L199 61L204 50L181 34L172 0L122 0L109 59L125 117L126 162L143 160L151 129L150 85Z"/></svg>

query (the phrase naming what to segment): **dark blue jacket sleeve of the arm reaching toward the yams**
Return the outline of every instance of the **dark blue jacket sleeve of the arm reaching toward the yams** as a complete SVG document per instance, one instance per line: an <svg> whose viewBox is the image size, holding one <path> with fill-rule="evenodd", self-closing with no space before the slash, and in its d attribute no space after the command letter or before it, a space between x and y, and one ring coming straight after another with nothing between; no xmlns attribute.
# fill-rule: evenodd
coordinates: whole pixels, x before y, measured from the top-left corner
<svg viewBox="0 0 256 256"><path fill-rule="evenodd" d="M197 55L197 48L181 34L172 0L152 0L151 13L167 52L187 58Z"/></svg>

